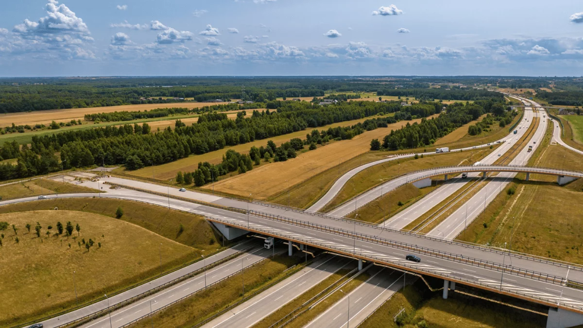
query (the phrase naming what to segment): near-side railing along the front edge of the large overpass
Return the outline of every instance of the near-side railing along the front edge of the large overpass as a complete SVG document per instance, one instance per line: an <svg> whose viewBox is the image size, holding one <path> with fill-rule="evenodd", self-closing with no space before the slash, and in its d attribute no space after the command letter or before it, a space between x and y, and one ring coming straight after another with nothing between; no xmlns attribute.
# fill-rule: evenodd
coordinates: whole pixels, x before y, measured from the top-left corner
<svg viewBox="0 0 583 328"><path fill-rule="evenodd" d="M236 226L237 228L248 229L247 226L245 226L243 223L236 224L233 221L228 221L228 220L218 219L218 218L209 218L209 219L211 221L220 221L226 225ZM293 220L293 219L291 219L291 220ZM285 236L285 235L282 235L280 233L274 232L272 229L259 228L256 224L254 224L254 227L252 229L255 231L258 231L259 233L264 233L266 235L277 236L278 238L281 238L281 239L286 239L286 240L290 239L289 236ZM298 240L298 238L296 238L296 237L291 238L291 239ZM339 249L339 247L333 247L333 246L330 246L328 244L315 242L314 240L298 240L298 242L311 244L311 245L314 245L316 247L320 247L322 249L330 249L332 251L336 251L339 253L350 254L350 252L346 252L346 250ZM356 255L356 254L354 254L354 255ZM557 307L561 307L564 309L575 310L578 313L583 313L583 306L575 306L575 305L570 304L570 303L561 302L560 299L559 299L559 301L556 301L555 299L552 299L552 298L545 298L543 296L538 296L537 294L540 294L540 292L535 291L535 290L533 290L531 293L529 293L529 292L525 292L525 291L519 291L519 290L514 289L514 288L505 288L503 286L504 284L500 284L500 287L498 288L497 282L494 282L494 281L490 281L491 282L490 284L486 284L484 281L470 280L467 278L459 277L457 275L444 273L442 271L432 270L431 268L428 268L428 267L418 267L418 266L413 265L412 263L407 263L406 261L404 261L402 263L401 262L394 263L394 262L391 262L390 260L387 260L387 259L382 258L382 257L372 256L370 254L362 254L362 253L358 254L358 256L364 257L365 259L368 259L368 260L373 260L377 263L387 264L388 266L401 267L401 268L405 268L405 270L419 272L422 274L430 274L430 275L433 275L436 277L444 278L446 280L458 281L458 282L461 282L462 284L467 284L470 286L473 285L473 286L481 287L481 288L488 289L491 291L500 291L502 294L506 294L506 295L510 295L510 296L520 296L521 298L543 302L546 305L557 306Z"/></svg>

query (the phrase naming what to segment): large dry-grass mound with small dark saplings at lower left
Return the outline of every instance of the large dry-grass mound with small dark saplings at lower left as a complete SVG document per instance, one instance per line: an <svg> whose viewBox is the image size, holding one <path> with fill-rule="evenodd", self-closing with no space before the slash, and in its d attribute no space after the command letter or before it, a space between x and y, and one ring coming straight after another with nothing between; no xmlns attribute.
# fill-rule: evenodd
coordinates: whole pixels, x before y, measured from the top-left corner
<svg viewBox="0 0 583 328"><path fill-rule="evenodd" d="M15 212L0 215L0 221L19 229L16 236L11 228L2 231L1 326L74 304L73 271L79 299L87 301L86 296L103 294L108 287L135 280L147 271L153 275L160 264L159 250L163 265L185 260L193 250L128 222L86 212ZM34 232L37 221L43 227L40 238ZM69 238L54 236L57 221L79 224L80 235L73 231ZM27 223L33 226L31 232L25 228ZM48 225L53 226L50 236L45 235ZM85 245L78 246L83 238L94 241L89 251Z"/></svg>

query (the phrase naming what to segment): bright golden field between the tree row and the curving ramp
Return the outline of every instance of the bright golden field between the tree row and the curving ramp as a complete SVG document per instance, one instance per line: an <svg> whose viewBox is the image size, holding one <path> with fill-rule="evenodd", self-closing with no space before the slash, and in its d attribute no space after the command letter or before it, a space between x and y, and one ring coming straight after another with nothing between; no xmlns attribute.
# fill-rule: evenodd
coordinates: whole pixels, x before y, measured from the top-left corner
<svg viewBox="0 0 583 328"><path fill-rule="evenodd" d="M254 198L265 200L287 188L286 180L294 186L310 177L345 162L351 158L368 152L373 138L382 138L391 130L401 128L407 123L421 120L402 121L389 124L386 128L377 128L357 135L352 140L333 142L332 144L305 152L286 162L275 162L262 166L243 175L230 177L215 183L215 190L223 193L247 197L250 193ZM150 172L151 173L151 172ZM204 188L209 188L204 187Z"/></svg>

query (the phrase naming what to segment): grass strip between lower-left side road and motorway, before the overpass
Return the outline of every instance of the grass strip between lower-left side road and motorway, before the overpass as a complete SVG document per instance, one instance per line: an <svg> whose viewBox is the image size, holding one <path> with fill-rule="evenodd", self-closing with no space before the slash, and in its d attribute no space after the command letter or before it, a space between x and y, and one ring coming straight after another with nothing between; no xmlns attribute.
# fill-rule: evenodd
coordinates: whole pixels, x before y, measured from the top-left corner
<svg viewBox="0 0 583 328"><path fill-rule="evenodd" d="M159 312L154 313L152 321L157 327L192 327L205 323L210 317L225 309L238 305L241 301L255 293L264 290L273 281L280 281L303 268L303 257L276 255L273 259L265 259L237 271L229 278L217 282L210 288L202 289L182 301L174 303ZM294 267L295 266L295 267ZM294 267L291 270L287 270ZM243 292L242 282L245 284ZM150 320L139 320L129 327L150 327Z"/></svg>

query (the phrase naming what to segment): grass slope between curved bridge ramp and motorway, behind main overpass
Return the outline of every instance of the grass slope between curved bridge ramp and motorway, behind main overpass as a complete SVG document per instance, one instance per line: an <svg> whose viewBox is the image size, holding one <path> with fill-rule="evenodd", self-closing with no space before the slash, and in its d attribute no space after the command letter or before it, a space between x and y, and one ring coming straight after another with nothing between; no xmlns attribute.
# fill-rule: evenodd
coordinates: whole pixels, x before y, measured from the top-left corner
<svg viewBox="0 0 583 328"><path fill-rule="evenodd" d="M422 189L413 186L411 183L405 184L395 190L384 193L381 197L360 207L356 212L352 212L346 217L354 219L358 214L360 221L380 224L436 190L438 188L437 180L434 182L431 183L431 187Z"/></svg>

